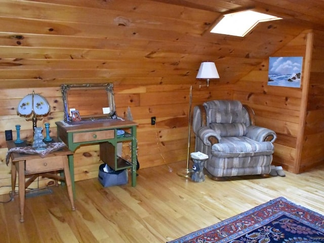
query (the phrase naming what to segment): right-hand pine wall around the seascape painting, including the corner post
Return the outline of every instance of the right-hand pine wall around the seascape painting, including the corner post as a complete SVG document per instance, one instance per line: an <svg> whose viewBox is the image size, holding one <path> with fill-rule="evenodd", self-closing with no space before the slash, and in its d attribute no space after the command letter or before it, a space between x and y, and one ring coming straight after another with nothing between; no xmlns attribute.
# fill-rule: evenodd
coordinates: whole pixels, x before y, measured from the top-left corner
<svg viewBox="0 0 324 243"><path fill-rule="evenodd" d="M323 163L323 33L304 31L273 57L303 57L301 88L268 86L269 62L241 78L233 99L249 104L256 124L277 133L273 164L301 173Z"/></svg>

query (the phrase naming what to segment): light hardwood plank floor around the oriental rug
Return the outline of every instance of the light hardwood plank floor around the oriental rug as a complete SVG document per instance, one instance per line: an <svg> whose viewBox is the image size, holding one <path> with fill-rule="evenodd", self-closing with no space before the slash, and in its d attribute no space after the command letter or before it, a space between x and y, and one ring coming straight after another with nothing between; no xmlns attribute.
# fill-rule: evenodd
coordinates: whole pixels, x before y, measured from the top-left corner
<svg viewBox="0 0 324 243"><path fill-rule="evenodd" d="M192 182L177 175L186 163L138 171L136 187L103 188L97 179L76 182L76 211L64 186L0 204L1 242L166 242L220 222L278 196L324 214L324 166L286 177ZM2 201L8 195L0 196Z"/></svg>

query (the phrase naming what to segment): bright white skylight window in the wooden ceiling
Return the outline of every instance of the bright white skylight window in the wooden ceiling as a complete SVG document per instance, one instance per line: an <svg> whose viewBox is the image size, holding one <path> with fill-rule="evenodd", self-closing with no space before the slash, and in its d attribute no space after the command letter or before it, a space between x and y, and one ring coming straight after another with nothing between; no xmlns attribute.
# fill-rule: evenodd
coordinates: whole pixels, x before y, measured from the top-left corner
<svg viewBox="0 0 324 243"><path fill-rule="evenodd" d="M268 14L262 14L252 10L224 14L224 17L216 24L211 32L244 37L259 22L278 19L282 18Z"/></svg>

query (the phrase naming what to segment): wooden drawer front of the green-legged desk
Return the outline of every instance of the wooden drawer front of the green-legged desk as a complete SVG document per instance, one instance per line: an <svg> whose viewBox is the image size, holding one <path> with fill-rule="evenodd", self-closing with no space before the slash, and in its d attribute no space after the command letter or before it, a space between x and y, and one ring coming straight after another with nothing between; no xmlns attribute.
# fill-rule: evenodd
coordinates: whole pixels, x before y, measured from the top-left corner
<svg viewBox="0 0 324 243"><path fill-rule="evenodd" d="M74 133L73 143L112 139L114 137L115 137L115 131L113 129L103 130L103 131L84 132L84 133Z"/></svg>

